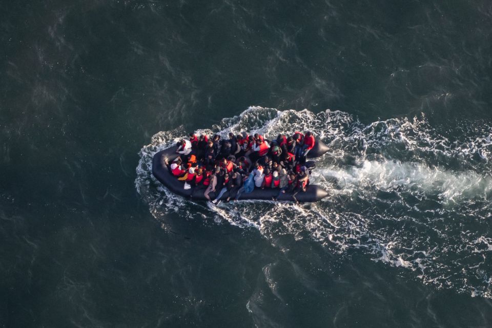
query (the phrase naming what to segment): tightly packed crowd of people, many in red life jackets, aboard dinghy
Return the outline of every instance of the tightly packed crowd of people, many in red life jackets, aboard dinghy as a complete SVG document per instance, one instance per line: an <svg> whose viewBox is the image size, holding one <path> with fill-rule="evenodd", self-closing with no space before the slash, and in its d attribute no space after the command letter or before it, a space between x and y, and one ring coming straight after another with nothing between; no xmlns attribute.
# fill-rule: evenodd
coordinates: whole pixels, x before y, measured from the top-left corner
<svg viewBox="0 0 492 328"><path fill-rule="evenodd" d="M229 139L190 133L189 139L178 142L178 157L165 164L178 180L185 181L185 188L203 188L204 196L214 204L226 192L229 202L254 187L276 188L273 200L289 193L298 202L296 195L309 184L306 155L314 145L311 132L295 132L289 137L279 134L274 141L258 133L229 133Z"/></svg>

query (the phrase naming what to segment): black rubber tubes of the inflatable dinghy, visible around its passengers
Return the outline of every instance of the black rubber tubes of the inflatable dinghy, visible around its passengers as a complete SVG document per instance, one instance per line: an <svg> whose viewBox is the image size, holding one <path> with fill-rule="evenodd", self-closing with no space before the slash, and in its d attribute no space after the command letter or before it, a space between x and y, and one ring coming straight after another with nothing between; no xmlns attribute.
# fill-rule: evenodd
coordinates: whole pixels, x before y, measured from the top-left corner
<svg viewBox="0 0 492 328"><path fill-rule="evenodd" d="M171 163L179 154L176 153L176 146L171 146L167 149L158 151L155 153L152 159L152 174L159 180L164 186L171 190L174 194L193 200L204 200L207 198L203 196L205 191L205 186L192 187L190 189L185 189L185 182L179 181L175 176L172 175L169 167L165 164L167 161ZM328 147L321 141L316 140L316 144L313 149L310 150L306 157L315 158L323 155L328 151ZM217 188L218 189L218 188ZM245 194L244 192L239 197L239 200L272 200L272 197L277 197L278 188L255 188L252 192ZM218 195L219 190L216 193L211 192L209 196L214 199ZM305 192L299 192L296 198L299 202L317 202L324 197L328 196L328 192L321 188L320 186L310 184L306 187ZM228 197L228 192L222 195L221 200L225 200ZM285 193L278 197L279 201L294 201L292 194Z"/></svg>

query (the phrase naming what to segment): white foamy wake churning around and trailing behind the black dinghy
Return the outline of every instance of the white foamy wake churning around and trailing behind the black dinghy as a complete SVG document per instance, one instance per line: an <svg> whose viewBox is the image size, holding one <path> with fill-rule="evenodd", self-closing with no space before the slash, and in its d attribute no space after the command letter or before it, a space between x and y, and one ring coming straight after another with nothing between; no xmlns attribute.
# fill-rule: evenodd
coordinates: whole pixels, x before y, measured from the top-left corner
<svg viewBox="0 0 492 328"><path fill-rule="evenodd" d="M199 207L173 195L152 176L152 156L186 131L157 133L141 149L136 188L159 220L228 221L274 240L310 239L331 252L362 252L414 272L426 284L492 298L492 128L461 122L432 127L419 118L361 124L347 113L250 107L208 133L260 132L270 138L313 131L330 147L312 181L330 192L323 201L236 202Z"/></svg>

